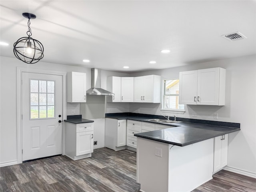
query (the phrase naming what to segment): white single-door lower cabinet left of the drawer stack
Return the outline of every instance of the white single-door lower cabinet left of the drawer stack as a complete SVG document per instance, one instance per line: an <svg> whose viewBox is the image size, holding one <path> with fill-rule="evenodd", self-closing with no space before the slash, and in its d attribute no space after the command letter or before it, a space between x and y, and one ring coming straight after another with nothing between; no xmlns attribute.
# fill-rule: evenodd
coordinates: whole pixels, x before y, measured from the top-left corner
<svg viewBox="0 0 256 192"><path fill-rule="evenodd" d="M115 151L126 148L126 119L105 118L105 147Z"/></svg>

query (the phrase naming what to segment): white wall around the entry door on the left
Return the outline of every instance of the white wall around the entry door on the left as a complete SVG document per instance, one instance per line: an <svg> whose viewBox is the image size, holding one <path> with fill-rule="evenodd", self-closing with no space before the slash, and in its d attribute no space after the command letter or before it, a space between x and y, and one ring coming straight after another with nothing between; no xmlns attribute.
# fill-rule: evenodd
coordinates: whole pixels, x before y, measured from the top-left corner
<svg viewBox="0 0 256 192"><path fill-rule="evenodd" d="M0 57L0 164L17 161L17 78L16 68L37 68L62 72L85 72L90 74L90 68L66 66L46 62L26 64L16 58ZM90 86L90 75L86 76L87 86ZM68 105L68 111L78 110L77 104ZM69 112L67 113L69 114ZM79 110L78 110L79 114ZM66 117L64 117L66 119Z"/></svg>

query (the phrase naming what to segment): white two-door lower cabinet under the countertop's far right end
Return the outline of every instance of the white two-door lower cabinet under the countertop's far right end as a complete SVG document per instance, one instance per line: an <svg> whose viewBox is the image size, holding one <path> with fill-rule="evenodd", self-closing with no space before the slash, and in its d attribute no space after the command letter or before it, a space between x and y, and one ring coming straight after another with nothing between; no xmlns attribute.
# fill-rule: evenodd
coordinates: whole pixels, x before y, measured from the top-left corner
<svg viewBox="0 0 256 192"><path fill-rule="evenodd" d="M218 172L228 164L228 134L214 138L213 172Z"/></svg>

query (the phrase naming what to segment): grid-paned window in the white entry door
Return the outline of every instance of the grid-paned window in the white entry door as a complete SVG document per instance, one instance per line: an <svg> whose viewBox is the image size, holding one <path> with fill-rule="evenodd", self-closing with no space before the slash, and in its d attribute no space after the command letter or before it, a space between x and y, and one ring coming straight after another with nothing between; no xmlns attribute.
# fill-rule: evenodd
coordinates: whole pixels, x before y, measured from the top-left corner
<svg viewBox="0 0 256 192"><path fill-rule="evenodd" d="M54 81L30 80L30 119L54 118Z"/></svg>

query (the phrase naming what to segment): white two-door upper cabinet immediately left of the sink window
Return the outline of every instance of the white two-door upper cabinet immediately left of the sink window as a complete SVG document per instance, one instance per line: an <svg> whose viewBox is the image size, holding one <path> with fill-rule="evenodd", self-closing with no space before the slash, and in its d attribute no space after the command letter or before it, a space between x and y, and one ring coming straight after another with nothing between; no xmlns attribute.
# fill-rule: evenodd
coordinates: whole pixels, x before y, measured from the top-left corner
<svg viewBox="0 0 256 192"><path fill-rule="evenodd" d="M161 77L147 75L134 77L134 102L160 103Z"/></svg>

